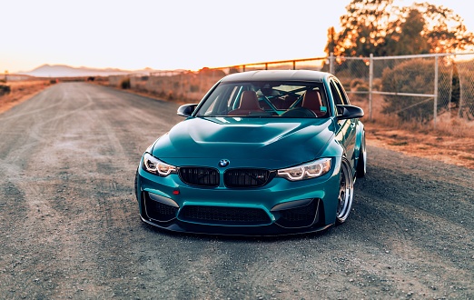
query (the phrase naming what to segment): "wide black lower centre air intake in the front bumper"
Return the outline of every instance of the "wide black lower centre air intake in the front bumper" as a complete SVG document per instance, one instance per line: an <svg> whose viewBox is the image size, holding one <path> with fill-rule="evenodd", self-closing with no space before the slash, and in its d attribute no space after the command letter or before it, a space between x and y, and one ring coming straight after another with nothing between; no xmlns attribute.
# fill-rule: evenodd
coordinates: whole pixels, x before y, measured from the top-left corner
<svg viewBox="0 0 474 300"><path fill-rule="evenodd" d="M183 221L215 225L265 225L271 222L260 208L186 205L180 211Z"/></svg>

